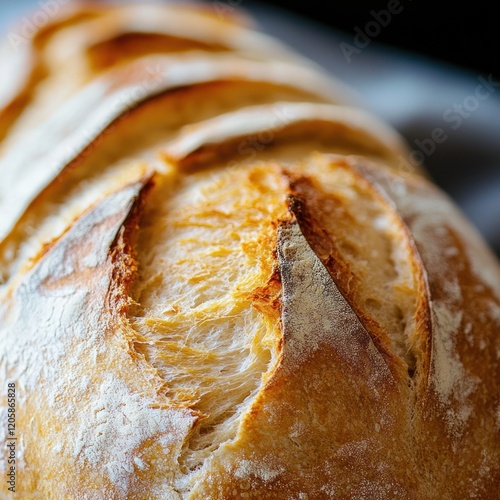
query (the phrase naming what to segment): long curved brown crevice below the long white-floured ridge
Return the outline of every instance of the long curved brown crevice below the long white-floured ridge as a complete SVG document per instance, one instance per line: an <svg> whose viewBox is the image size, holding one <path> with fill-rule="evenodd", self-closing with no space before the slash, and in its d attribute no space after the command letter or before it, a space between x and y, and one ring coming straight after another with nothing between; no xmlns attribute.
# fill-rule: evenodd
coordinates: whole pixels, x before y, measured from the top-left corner
<svg viewBox="0 0 500 500"><path fill-rule="evenodd" d="M54 176L11 233L0 240L0 285L24 264L30 267L29 260L36 258L43 244L58 237L89 206L141 177L145 169L154 169L157 149L182 126L244 105L283 98L300 100L304 94L270 82L213 81L174 88L137 109L124 110L116 123ZM93 133L83 132L86 136Z"/></svg>

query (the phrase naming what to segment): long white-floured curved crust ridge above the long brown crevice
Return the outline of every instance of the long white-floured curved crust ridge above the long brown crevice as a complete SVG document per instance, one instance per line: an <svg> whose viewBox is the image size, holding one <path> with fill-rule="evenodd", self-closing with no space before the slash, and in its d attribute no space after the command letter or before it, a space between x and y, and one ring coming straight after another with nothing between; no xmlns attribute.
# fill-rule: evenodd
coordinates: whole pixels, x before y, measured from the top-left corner
<svg viewBox="0 0 500 500"><path fill-rule="evenodd" d="M191 61L159 58L145 61L94 83L71 107L53 118L48 130L39 130L34 134L30 138L29 147L16 149L2 160L0 170L8 178L4 192L0 191L0 203L2 208L11 208L10 217L2 219L0 238L5 238L16 217L22 215L33 202L35 194L42 192L63 170L71 169L73 164L89 155L106 132L118 120L127 119L134 108L157 96L188 87L197 90L196 86L203 84L238 83L246 80L253 84L275 86L277 89L281 86L286 89L287 80L304 71L304 68L293 65L243 62L231 58L210 60L207 57L195 57ZM316 75L310 76L313 79ZM326 81L321 82L319 75L314 83L328 86ZM312 85L309 89L303 85L288 87L290 94L295 92L297 96L313 98L317 93ZM206 90L199 88L198 92ZM318 94L321 95L321 91ZM89 109L94 110L90 116ZM79 126L75 128L75 124ZM46 168L39 168L36 164L40 157L48 157ZM26 182L28 178L29 183Z"/></svg>

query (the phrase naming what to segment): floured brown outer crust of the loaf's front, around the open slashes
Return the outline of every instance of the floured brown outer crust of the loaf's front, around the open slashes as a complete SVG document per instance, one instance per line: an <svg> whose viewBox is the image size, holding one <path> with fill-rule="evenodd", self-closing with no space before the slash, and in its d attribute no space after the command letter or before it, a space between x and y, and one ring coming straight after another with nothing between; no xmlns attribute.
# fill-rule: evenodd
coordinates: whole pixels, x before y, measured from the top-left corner
<svg viewBox="0 0 500 500"><path fill-rule="evenodd" d="M330 161L335 165L333 157ZM303 174L297 172L290 182L289 170L282 170L284 186L288 182L283 200L290 212L277 221L276 247L268 249L278 273L272 280L282 288L278 358L241 415L237 435L201 468L189 473L180 469L179 457L200 414L190 404L165 397L165 383L137 350L138 339L125 320L137 266L134 234L150 197L141 181L78 220L4 302L9 307L2 318L7 339L2 371L22 383L23 442L40 444L24 451L23 491L36 489L49 498L81 492L98 497L103 488L118 498L494 494L498 423L491 395L498 379L491 376L492 366L497 368L485 366L484 356L494 356L498 348L498 298L484 282L478 288L474 257L467 252L479 243L467 235L469 243L463 246L467 224L427 181L415 177L402 184L401 178L381 175L376 165L360 160L337 168L369 183L407 225L425 290L416 313L421 338L412 347L420 362L412 378L400 369L402 360L387 339L375 338L367 328L366 312L355 312L359 304L354 294L342 280L332 279L335 261L318 257L322 250L313 233L321 227L294 201L301 198L298 179ZM400 195L405 186L403 198L391 191L391 181ZM447 224L436 224L418 209L423 200L433 199L446 213ZM452 231L454 225L454 246L425 237L428 231ZM448 293L442 296L441 266L447 259L453 261L447 273L458 266L469 277L459 281L460 275L447 274ZM455 310L453 301L471 289L475 297L468 300L478 305ZM261 300L271 300L265 297L261 292ZM22 313L28 310L30 314ZM453 328L454 313L465 320L458 329ZM75 317L83 320L75 322ZM39 335L44 336L42 344ZM71 401L79 401L78 407ZM28 425L32 418L36 427ZM127 437L120 437L125 431ZM48 449L57 452L50 459ZM457 464L457 454L464 459L463 450L467 462ZM42 461L43 469L37 465ZM56 483L52 474L59 477L61 467L67 479ZM446 479L451 474L453 484Z"/></svg>

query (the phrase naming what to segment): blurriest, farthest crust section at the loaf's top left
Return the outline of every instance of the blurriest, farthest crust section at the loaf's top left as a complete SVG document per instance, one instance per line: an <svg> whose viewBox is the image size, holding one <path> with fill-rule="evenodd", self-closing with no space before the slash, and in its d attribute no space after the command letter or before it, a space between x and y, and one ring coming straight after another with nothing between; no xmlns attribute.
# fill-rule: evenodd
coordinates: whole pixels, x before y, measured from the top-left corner
<svg viewBox="0 0 500 500"><path fill-rule="evenodd" d="M248 29L244 16L216 15L203 6L75 1L57 5L50 15L43 12L47 21L41 25L31 21L36 14L25 18L29 32L25 25L13 27L1 51L10 74L0 84L4 149L88 82L142 56L233 52L311 66L276 40Z"/></svg>

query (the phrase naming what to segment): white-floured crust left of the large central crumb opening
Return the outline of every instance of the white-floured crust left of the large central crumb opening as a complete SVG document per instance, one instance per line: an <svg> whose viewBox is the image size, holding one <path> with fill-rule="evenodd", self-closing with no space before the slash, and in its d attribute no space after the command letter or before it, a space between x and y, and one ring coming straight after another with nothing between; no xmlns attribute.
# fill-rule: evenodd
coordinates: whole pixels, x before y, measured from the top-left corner
<svg viewBox="0 0 500 500"><path fill-rule="evenodd" d="M0 371L19 387L19 442L37 443L17 462L23 498L33 491L129 498L141 481L154 481L136 473L136 459L150 464L154 451L157 463L172 461L192 427L189 412L155 408L157 395L117 335L108 302L122 284L110 251L133 226L145 189L143 181L132 184L89 210L13 291Z"/></svg>

